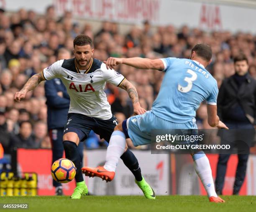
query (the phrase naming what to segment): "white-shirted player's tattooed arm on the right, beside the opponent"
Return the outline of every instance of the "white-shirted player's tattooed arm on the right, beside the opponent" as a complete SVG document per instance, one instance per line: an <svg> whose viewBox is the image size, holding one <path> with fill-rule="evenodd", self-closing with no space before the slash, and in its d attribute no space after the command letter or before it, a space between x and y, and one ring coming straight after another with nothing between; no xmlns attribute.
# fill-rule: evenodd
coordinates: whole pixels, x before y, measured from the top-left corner
<svg viewBox="0 0 256 212"><path fill-rule="evenodd" d="M135 86L133 86L133 84L130 83L127 79L124 79L123 82L119 85L119 87L127 91L127 93L129 94L131 101L133 103L134 114L144 114L146 110L143 109L139 103L138 93Z"/></svg>

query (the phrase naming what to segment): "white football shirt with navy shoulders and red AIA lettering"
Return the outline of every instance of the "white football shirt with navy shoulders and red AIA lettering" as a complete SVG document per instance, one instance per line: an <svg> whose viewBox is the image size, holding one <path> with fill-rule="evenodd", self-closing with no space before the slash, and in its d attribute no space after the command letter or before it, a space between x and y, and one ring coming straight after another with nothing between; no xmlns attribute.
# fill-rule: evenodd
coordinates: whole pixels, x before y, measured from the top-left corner
<svg viewBox="0 0 256 212"><path fill-rule="evenodd" d="M82 73L81 73L82 72ZM115 86L125 80L124 76L107 69L105 63L92 58L90 67L78 70L75 58L60 60L42 71L46 80L60 78L70 97L69 113L84 114L103 120L110 119L112 112L104 92L106 82Z"/></svg>

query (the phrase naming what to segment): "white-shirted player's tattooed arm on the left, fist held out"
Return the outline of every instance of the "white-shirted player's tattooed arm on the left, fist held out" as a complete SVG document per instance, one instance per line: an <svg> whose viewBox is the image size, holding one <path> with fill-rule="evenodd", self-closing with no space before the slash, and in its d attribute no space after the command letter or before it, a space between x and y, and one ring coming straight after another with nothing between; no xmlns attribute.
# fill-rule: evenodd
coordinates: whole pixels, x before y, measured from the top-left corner
<svg viewBox="0 0 256 212"><path fill-rule="evenodd" d="M20 101L20 99L25 98L28 91L31 91L34 88L36 88L36 86L38 86L38 84L44 80L45 80L45 78L42 75L42 73L37 73L37 74L31 76L31 78L28 79L28 81L23 86L23 88L14 94L14 100Z"/></svg>

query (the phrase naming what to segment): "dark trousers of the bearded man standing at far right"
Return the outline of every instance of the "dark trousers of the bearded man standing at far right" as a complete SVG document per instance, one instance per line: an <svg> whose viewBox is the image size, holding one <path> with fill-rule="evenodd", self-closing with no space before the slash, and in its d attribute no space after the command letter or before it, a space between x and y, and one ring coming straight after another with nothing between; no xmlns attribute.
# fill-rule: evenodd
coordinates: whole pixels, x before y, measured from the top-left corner
<svg viewBox="0 0 256 212"><path fill-rule="evenodd" d="M253 125L250 123L243 124L243 123L234 123L234 122L226 122L225 124L230 129L229 132L227 131L227 136L226 136L226 138L228 138L228 140L229 139L231 139L231 140L237 139L239 137L239 135L241 135L241 129L244 129L244 130L247 129L248 131L246 131L246 132L249 132L249 133L248 133L248 136L246 137L246 141L248 141L248 142L242 142L241 144L247 145L249 148L249 143L253 142L250 140L252 140L254 137L254 133L251 133L252 131L250 130L250 129L253 130ZM240 130L240 131L237 130L238 135L236 135L236 129ZM243 136L243 139L244 138L245 138L245 136ZM222 143L223 143L223 141L222 141ZM232 146L232 144L230 146ZM239 145L238 145L238 148L239 148ZM216 174L216 180L215 180L215 187L216 187L217 194L222 194L229 157L230 157L230 154L220 154L219 155L218 165L217 165L217 174ZM236 178L235 178L235 183L234 183L234 187L233 187L233 194L238 194L243 185L243 182L244 182L244 179L246 176L248 157L249 157L249 154L238 154L238 164L237 164L237 168L236 168Z"/></svg>

